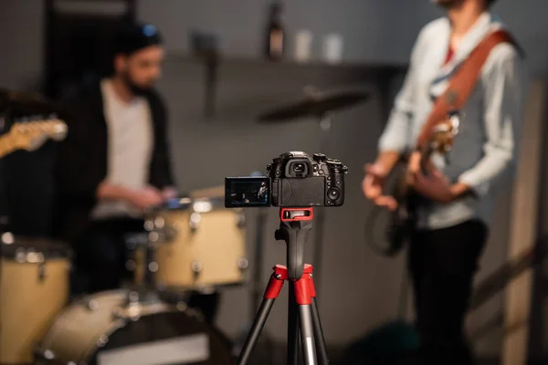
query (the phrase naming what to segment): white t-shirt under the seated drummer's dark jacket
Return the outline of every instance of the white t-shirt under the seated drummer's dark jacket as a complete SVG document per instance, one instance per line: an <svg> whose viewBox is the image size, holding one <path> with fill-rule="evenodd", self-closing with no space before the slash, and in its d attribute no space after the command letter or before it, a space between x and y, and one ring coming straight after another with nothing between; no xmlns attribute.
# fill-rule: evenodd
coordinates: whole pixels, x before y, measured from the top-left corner
<svg viewBox="0 0 548 365"><path fill-rule="evenodd" d="M151 110L144 98L131 102L121 100L110 79L100 83L103 112L107 122L109 183L140 189L149 181L149 166L153 151ZM101 201L91 213L93 219L119 216L139 216L132 205L120 201Z"/></svg>

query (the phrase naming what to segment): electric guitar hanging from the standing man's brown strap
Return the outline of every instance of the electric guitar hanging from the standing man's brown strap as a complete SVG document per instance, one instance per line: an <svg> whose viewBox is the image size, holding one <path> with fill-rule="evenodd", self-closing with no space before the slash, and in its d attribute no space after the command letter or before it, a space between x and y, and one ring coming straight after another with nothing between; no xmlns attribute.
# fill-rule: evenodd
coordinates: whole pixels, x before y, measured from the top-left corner
<svg viewBox="0 0 548 365"><path fill-rule="evenodd" d="M427 163L433 153L437 152L446 155L451 150L453 139L458 134L458 125L460 116L458 111L448 113L446 120L443 120L433 128L430 138L427 143L419 150L420 152L420 168L423 172L427 171ZM396 255L403 248L406 239L416 227L416 209L421 203L425 203L425 199L413 191L413 188L408 183L408 163L409 154L401 157L399 163L403 165L403 169L397 175L395 187L392 191L397 202L397 209L390 213L388 218L389 223L385 230L385 238L388 241L388 247L381 247L374 243L374 235L372 232L377 225L375 219L383 214L384 208L374 206L371 215L365 224L366 235L370 235L367 242L374 248L374 251L381 255Z"/></svg>

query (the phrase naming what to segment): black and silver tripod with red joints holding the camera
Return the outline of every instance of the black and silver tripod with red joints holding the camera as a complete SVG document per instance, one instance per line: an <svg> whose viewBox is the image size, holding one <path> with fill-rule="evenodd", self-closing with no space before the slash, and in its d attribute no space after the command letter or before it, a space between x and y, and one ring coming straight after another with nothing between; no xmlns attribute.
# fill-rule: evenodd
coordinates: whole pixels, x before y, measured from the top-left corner
<svg viewBox="0 0 548 365"><path fill-rule="evenodd" d="M279 295L284 281L290 284L288 310L288 365L299 364L299 334L305 365L327 365L327 350L321 329L316 291L312 280L312 266L303 263L304 244L312 228L312 208L280 208L276 240L287 245L288 266L276 265L270 276L263 301L253 321L237 365L248 363L270 309ZM320 359L317 362L316 359Z"/></svg>

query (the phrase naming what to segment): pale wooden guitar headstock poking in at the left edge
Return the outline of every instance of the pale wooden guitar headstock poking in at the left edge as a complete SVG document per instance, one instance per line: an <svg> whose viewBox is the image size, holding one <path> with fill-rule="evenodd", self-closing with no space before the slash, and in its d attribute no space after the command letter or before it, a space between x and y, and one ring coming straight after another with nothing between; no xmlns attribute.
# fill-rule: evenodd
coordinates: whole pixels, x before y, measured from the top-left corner
<svg viewBox="0 0 548 365"><path fill-rule="evenodd" d="M15 122L0 136L0 158L16 150L36 151L47 139L62 141L67 131L67 124L58 119Z"/></svg>

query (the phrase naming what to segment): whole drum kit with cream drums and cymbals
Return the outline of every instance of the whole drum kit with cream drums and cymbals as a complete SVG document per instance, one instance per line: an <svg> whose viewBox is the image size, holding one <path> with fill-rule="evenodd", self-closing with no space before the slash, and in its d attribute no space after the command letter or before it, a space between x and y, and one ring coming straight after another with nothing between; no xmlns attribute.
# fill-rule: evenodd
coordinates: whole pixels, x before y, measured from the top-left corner
<svg viewBox="0 0 548 365"><path fill-rule="evenodd" d="M321 117L325 129L328 110L367 94L316 96L261 120L309 114ZM49 106L7 92L0 92L0 106L9 98ZM128 235L127 245L129 285L70 300L68 245L1 233L0 364L234 363L230 341L186 301L191 293L246 282L245 215L224 207L224 187L150 210L143 232Z"/></svg>

